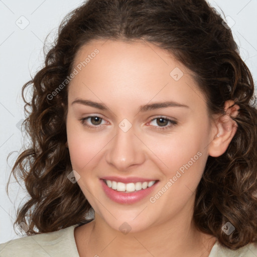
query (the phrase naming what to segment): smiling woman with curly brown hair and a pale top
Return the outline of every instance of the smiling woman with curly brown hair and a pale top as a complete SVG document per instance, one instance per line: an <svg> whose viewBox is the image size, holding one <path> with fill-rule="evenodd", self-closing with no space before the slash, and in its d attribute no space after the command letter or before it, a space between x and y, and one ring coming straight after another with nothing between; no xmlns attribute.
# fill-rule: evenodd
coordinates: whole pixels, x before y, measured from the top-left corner
<svg viewBox="0 0 257 257"><path fill-rule="evenodd" d="M257 255L253 80L204 0L89 0L29 85L0 254Z"/></svg>

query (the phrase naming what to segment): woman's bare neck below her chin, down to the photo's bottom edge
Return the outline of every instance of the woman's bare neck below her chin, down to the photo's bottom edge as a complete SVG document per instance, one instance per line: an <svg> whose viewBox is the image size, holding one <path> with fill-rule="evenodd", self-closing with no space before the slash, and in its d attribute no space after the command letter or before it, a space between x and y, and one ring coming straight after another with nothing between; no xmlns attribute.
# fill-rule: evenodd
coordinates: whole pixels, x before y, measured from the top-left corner
<svg viewBox="0 0 257 257"><path fill-rule="evenodd" d="M111 228L96 213L93 221L83 225L87 227L84 227L80 236L83 247L78 247L79 254L83 257L207 257L216 238L198 231L192 224L192 216L190 212L185 212L185 215L179 213L176 217L155 223L145 230L124 234ZM88 235L87 239L85 234Z"/></svg>

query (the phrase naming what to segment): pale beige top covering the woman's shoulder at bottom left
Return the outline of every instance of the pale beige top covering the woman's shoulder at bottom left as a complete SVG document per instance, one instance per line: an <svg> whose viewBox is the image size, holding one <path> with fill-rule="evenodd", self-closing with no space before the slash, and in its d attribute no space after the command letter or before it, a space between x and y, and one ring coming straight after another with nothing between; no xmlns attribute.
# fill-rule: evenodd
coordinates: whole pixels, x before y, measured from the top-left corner
<svg viewBox="0 0 257 257"><path fill-rule="evenodd" d="M73 225L54 232L24 236L0 244L2 257L31 257L38 256L77 256Z"/></svg>

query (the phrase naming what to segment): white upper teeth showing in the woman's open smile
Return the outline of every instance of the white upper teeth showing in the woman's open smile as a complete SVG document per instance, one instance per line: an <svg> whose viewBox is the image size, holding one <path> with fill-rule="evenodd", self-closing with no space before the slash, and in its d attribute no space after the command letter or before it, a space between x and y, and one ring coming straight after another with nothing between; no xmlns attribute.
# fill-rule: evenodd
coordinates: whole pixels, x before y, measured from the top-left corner
<svg viewBox="0 0 257 257"><path fill-rule="evenodd" d="M113 190L117 190L119 192L135 192L142 189L146 189L147 187L151 187L155 184L155 180L150 182L136 182L136 183L127 183L124 184L122 182L116 182L111 180L106 180L106 184L109 188Z"/></svg>

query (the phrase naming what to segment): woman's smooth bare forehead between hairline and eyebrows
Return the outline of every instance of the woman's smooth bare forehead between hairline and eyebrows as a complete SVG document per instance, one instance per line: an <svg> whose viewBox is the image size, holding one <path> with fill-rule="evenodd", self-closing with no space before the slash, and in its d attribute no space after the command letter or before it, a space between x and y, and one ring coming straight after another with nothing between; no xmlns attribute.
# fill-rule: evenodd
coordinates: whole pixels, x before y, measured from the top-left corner
<svg viewBox="0 0 257 257"><path fill-rule="evenodd" d="M189 69L146 41L91 41L77 52L73 69L78 72L69 85L73 98L148 102L166 97L193 103L204 97Z"/></svg>

